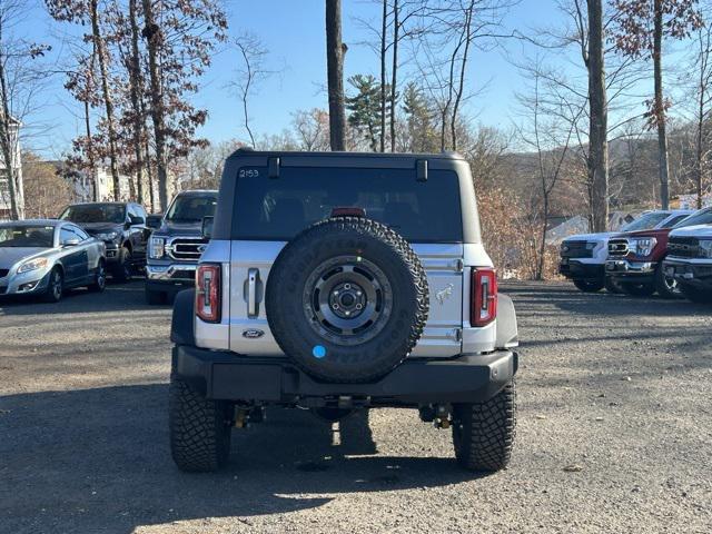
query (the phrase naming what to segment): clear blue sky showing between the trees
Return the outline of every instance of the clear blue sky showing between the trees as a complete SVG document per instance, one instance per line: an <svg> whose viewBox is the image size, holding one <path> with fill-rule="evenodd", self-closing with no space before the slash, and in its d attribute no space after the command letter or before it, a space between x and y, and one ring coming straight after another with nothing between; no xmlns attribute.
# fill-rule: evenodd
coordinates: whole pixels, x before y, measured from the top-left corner
<svg viewBox="0 0 712 534"><path fill-rule="evenodd" d="M290 113L297 109L326 107L326 56L324 37L324 0L228 0L230 34L251 32L269 50L268 67L285 67L258 88L251 98L251 116L257 135L278 134L287 128ZM358 42L368 38L357 18L378 19L377 2L343 0L344 41L349 44L346 57L346 77L354 73L379 72L375 53ZM561 19L554 0L523 0L507 19L507 27L525 31L555 24ZM42 2L30 13L22 28L29 38L55 46L53 60L67 60L58 34L68 31L67 24L51 21ZM523 44L511 42L508 53L522 58ZM200 135L214 142L245 139L240 128L240 108L236 95L229 89L236 76L239 57L235 50L216 53L201 89L194 102L208 109L209 119ZM512 125L516 107L514 93L524 80L502 51L476 51L469 65L468 80L475 89L486 83L485 91L467 103L465 113L471 120L488 126ZM42 108L42 121L51 126L50 136L30 139L33 148L48 157L59 157L70 148L71 139L81 131L81 108L62 88L63 78L50 79Z"/></svg>

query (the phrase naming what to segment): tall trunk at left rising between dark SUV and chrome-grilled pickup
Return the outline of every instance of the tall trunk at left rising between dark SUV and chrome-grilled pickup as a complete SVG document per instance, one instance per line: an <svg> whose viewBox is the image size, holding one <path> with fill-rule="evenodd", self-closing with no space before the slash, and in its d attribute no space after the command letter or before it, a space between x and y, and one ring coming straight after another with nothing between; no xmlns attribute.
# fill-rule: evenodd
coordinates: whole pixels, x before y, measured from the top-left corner
<svg viewBox="0 0 712 534"><path fill-rule="evenodd" d="M156 171L158 174L158 200L160 209L168 206L168 161L166 155L166 110L162 93L161 72L158 65L162 36L156 23L152 0L144 3L144 37L148 41L148 71L150 76L151 119L156 144Z"/></svg>

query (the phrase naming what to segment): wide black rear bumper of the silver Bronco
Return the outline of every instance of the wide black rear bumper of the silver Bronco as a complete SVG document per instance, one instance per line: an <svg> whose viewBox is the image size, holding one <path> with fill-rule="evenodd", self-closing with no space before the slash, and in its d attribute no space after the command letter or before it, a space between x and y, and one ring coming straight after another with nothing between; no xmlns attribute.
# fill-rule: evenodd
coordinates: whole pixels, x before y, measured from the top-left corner
<svg viewBox="0 0 712 534"><path fill-rule="evenodd" d="M514 377L511 350L448 360L406 360L380 380L325 384L286 358L247 357L177 345L172 368L207 398L263 404L324 406L345 397L373 406L475 403L496 395Z"/></svg>

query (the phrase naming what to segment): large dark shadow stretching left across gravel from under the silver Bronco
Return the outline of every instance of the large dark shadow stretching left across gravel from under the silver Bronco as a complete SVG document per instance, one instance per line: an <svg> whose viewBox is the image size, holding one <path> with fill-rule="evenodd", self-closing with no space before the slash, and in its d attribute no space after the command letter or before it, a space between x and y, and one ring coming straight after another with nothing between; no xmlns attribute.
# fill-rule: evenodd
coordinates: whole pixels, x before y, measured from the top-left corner
<svg viewBox="0 0 712 534"><path fill-rule="evenodd" d="M375 454L366 417L329 423L297 409L234 431L231 463L184 474L167 433L167 386L0 397L4 532L131 532L181 520L285 513L324 494L444 486L471 479L452 458ZM317 496L309 495L317 494Z"/></svg>

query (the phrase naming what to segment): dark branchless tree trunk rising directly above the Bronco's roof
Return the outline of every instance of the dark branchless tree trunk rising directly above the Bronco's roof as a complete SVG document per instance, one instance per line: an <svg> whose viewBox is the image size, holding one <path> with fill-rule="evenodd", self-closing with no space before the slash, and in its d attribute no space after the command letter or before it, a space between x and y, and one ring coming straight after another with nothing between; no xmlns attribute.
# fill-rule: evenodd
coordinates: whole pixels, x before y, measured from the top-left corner
<svg viewBox="0 0 712 534"><path fill-rule="evenodd" d="M144 0L147 1L147 0ZM326 0L326 69L329 95L329 140L332 150L346 150L344 105L344 53L342 0Z"/></svg>

